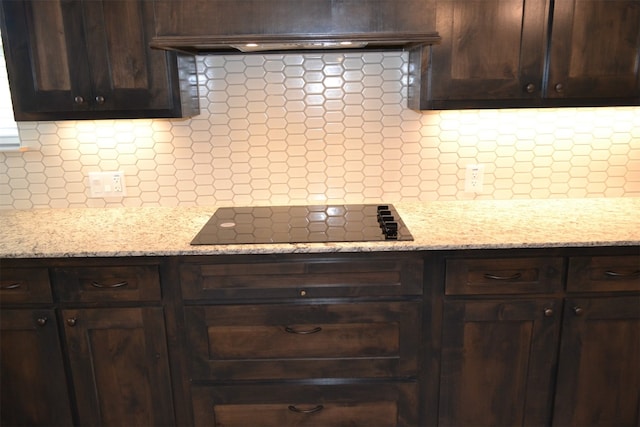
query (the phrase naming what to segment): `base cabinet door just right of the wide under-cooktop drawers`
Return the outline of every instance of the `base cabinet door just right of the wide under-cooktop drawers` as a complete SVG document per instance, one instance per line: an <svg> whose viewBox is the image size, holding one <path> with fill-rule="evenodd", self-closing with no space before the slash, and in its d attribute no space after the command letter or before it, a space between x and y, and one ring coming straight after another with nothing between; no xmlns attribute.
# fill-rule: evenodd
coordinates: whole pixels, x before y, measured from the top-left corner
<svg viewBox="0 0 640 427"><path fill-rule="evenodd" d="M445 302L439 425L548 425L559 306L553 299Z"/></svg>

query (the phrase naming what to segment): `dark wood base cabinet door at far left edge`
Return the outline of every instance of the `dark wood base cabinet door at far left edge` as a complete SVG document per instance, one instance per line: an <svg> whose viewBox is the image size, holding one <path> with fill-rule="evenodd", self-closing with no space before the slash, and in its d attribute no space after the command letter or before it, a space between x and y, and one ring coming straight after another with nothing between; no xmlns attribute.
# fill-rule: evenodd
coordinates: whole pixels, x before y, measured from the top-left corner
<svg viewBox="0 0 640 427"><path fill-rule="evenodd" d="M0 360L0 425L73 425L53 310L1 310Z"/></svg>

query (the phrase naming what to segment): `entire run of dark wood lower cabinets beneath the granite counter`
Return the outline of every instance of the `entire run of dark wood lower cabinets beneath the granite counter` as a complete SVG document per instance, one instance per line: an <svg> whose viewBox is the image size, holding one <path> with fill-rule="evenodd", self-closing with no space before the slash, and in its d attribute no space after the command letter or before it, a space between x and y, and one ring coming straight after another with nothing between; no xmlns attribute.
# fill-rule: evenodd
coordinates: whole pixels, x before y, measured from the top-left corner
<svg viewBox="0 0 640 427"><path fill-rule="evenodd" d="M639 254L1 260L0 426L638 427Z"/></svg>

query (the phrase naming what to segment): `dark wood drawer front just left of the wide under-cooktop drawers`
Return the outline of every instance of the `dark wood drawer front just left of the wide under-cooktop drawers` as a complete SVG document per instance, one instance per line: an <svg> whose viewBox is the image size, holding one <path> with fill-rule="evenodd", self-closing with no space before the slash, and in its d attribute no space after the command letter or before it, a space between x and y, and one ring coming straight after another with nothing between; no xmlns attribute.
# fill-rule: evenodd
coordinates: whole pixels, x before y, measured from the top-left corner
<svg viewBox="0 0 640 427"><path fill-rule="evenodd" d="M158 301L161 295L157 265L55 268L53 283L65 302Z"/></svg>

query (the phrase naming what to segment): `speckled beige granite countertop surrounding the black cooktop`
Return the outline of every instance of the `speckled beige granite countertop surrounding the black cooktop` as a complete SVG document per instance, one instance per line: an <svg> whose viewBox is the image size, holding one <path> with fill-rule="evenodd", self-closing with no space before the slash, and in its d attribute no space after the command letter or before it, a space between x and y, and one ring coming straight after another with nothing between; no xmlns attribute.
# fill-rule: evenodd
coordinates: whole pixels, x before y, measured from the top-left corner
<svg viewBox="0 0 640 427"><path fill-rule="evenodd" d="M640 245L640 198L394 202L412 242L191 246L216 207L0 211L0 257Z"/></svg>

